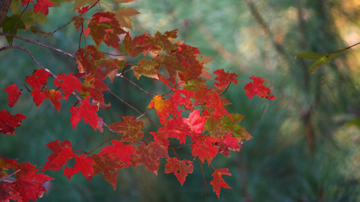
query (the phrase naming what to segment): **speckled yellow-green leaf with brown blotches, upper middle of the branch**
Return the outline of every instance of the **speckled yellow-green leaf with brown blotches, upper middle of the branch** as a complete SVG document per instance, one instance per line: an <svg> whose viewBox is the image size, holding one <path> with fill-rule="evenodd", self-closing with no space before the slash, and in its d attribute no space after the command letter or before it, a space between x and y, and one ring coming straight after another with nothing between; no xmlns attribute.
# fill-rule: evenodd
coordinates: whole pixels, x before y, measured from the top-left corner
<svg viewBox="0 0 360 202"><path fill-rule="evenodd" d="M153 60L148 60L146 58L141 58L139 60L138 66L132 66L132 71L134 71L135 77L139 80L141 75L145 77L159 79L159 66Z"/></svg>

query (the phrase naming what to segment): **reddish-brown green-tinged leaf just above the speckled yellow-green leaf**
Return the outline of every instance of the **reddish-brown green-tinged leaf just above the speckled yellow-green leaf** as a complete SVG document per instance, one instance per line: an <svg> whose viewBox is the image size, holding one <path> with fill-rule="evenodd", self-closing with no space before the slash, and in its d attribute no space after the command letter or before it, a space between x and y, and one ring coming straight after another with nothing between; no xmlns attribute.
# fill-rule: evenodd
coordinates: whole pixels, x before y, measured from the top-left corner
<svg viewBox="0 0 360 202"><path fill-rule="evenodd" d="M125 38L122 40L123 45L121 46L121 50L126 54L130 54L130 56L134 58L141 52L149 49L150 45L144 45L144 42L145 34L131 39L129 32L127 32Z"/></svg>

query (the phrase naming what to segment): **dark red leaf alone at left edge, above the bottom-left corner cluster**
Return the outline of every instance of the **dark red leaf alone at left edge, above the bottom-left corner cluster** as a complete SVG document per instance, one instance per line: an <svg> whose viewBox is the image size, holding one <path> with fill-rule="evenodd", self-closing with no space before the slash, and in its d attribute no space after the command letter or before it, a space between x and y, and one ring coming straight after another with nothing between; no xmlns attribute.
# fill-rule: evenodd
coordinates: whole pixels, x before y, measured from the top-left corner
<svg viewBox="0 0 360 202"><path fill-rule="evenodd" d="M11 115L10 112L6 110L0 111L0 133L14 136L15 127L19 127L22 123L22 120L27 117L23 114Z"/></svg>

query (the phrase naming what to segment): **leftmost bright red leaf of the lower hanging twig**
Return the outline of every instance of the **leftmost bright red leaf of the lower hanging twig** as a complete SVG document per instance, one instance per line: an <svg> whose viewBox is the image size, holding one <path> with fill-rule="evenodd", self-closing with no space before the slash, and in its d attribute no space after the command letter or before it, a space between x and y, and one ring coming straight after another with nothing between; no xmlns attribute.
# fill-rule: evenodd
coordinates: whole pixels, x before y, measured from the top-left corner
<svg viewBox="0 0 360 202"><path fill-rule="evenodd" d="M50 150L54 153L52 153L48 157L48 161L45 162L42 170L59 171L60 168L62 168L69 159L77 156L75 153L73 153L71 149L72 145L67 139L62 141L61 143L57 139L55 141L49 142L48 144L46 144L46 146L49 147Z"/></svg>

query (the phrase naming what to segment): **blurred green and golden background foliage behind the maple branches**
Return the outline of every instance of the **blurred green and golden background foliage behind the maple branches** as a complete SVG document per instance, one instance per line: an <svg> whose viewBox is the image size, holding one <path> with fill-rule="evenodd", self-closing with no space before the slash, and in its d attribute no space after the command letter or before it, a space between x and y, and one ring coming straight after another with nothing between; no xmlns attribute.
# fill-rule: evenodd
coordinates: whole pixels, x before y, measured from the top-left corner
<svg viewBox="0 0 360 202"><path fill-rule="evenodd" d="M68 180L62 174L63 169L58 173L45 171L55 180L51 180L48 193L38 201L360 201L360 49L355 46L345 51L316 68L315 74L308 70L311 61L294 60L294 56L304 50L331 53L359 42L359 1L105 2L113 10L126 6L141 13L132 17L132 37L179 29L179 40L215 59L207 64L209 72L224 68L225 72L237 73L238 79L244 81L249 81L252 75L262 77L277 100L249 99L243 82L237 86L232 84L225 93L233 103L226 109L246 115L241 125L254 138L245 141L240 152L231 152L231 157L218 154L212 162L216 168L228 167L233 175L224 176L233 189L221 189L220 200L212 191L213 169L207 164L203 167L207 188L197 160L194 172L180 186L174 174L163 172L165 160L162 160L157 176L143 166L118 170L116 190L102 174L94 176L90 183L80 173ZM71 13L72 4L50 8L45 24L37 27L51 32L69 22L76 15ZM101 7L108 9L104 4ZM18 35L33 40L42 37L30 31L19 31ZM78 38L79 33L71 23L41 42L75 53ZM6 43L5 37L0 37L0 46ZM32 51L35 58L55 74L77 70L71 58L58 52L20 40L15 40L14 45ZM108 50L106 46L100 47L105 52ZM24 78L37 68L22 50L0 52L0 91L12 83L23 84ZM135 77L130 79L136 81ZM120 78L113 83L105 81L126 102L142 112L147 110L151 96ZM167 91L161 83L144 77L140 77L139 85L152 93ZM62 101L58 114L49 100L36 107L30 93L22 92L13 108L8 106L7 93L0 96L0 110L28 117L16 128L15 136L0 135L3 158L30 161L42 167L51 154L46 143L68 139L73 148L90 151L103 142L103 135L111 136L107 130L103 135L94 132L84 121L72 130L68 109L75 98ZM121 116L138 115L109 92L105 91L104 95L105 101L112 104L111 110L99 112L105 123L122 121ZM150 113L149 117L153 115ZM145 122L145 133L156 130ZM190 148L177 153L193 160ZM173 155L171 151L169 154ZM73 161L67 166L72 164Z"/></svg>

